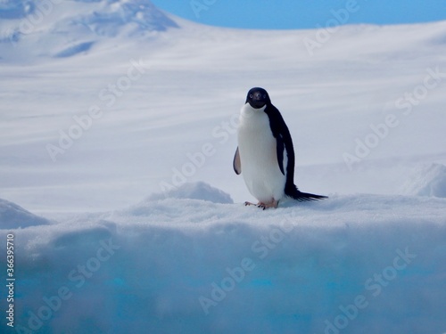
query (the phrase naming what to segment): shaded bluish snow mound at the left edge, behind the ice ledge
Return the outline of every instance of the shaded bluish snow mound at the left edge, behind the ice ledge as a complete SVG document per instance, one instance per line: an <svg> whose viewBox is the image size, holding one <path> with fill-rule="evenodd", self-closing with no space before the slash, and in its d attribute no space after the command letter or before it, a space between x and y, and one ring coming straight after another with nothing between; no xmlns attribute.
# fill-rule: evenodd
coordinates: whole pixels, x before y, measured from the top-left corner
<svg viewBox="0 0 446 334"><path fill-rule="evenodd" d="M31 214L8 200L0 199L0 229L17 229L50 224L45 218Z"/></svg>

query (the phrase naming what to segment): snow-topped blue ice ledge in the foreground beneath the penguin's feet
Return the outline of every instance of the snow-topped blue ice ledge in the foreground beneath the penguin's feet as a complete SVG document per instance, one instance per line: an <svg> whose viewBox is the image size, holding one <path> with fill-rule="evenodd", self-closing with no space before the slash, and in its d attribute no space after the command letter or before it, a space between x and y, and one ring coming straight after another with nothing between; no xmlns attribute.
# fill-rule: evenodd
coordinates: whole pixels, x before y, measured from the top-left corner
<svg viewBox="0 0 446 334"><path fill-rule="evenodd" d="M192 183L172 195L204 190L218 192ZM167 199L146 214L0 231L20 240L14 332L442 333L445 203L359 194L263 211Z"/></svg>

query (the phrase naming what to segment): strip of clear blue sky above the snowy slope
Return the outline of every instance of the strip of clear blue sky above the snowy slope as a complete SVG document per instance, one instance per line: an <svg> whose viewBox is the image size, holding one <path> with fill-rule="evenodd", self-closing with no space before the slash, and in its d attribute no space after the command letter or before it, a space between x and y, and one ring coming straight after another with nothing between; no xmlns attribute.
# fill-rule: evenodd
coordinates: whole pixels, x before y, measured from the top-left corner
<svg viewBox="0 0 446 334"><path fill-rule="evenodd" d="M446 0L152 0L196 22L247 29L313 29L327 22L400 24L446 20ZM335 12L338 13L337 17ZM331 20L331 21L330 21Z"/></svg>

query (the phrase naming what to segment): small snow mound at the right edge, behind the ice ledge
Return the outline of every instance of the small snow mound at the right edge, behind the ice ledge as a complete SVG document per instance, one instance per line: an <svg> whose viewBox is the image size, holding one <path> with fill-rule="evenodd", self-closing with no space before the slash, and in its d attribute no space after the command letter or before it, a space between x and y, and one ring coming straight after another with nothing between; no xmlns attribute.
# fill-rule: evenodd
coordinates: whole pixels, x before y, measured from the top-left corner
<svg viewBox="0 0 446 334"><path fill-rule="evenodd" d="M446 198L446 166L432 164L418 168L404 184L403 191L408 195Z"/></svg>

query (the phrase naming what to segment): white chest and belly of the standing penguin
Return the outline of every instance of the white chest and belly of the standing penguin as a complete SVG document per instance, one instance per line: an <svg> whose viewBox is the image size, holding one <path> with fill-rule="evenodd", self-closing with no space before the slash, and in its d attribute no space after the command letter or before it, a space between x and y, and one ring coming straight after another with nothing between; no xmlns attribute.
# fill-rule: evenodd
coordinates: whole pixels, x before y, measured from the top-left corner
<svg viewBox="0 0 446 334"><path fill-rule="evenodd" d="M244 183L260 202L280 200L284 196L286 176L277 162L277 141L269 126L268 115L248 103L241 111L238 126L238 150ZM284 154L286 167L286 153Z"/></svg>

